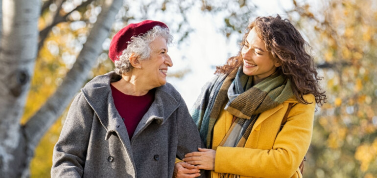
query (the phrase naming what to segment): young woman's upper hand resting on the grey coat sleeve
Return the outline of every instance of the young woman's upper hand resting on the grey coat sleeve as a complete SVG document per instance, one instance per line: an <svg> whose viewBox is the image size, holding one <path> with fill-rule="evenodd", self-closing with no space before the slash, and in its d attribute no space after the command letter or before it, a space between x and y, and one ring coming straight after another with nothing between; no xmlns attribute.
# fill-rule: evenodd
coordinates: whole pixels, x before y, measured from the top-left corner
<svg viewBox="0 0 377 178"><path fill-rule="evenodd" d="M206 148L199 148L198 150L199 152L186 154L182 160L195 165L196 169L214 170L216 151Z"/></svg>

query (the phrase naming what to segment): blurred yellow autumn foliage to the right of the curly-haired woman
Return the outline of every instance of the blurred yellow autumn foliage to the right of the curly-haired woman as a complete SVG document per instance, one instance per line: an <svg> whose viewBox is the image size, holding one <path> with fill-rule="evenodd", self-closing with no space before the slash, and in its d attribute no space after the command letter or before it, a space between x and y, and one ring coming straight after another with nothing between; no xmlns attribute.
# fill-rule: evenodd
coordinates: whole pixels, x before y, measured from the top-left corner
<svg viewBox="0 0 377 178"><path fill-rule="evenodd" d="M293 1L329 96L316 114L305 177L376 178L377 3Z"/></svg>

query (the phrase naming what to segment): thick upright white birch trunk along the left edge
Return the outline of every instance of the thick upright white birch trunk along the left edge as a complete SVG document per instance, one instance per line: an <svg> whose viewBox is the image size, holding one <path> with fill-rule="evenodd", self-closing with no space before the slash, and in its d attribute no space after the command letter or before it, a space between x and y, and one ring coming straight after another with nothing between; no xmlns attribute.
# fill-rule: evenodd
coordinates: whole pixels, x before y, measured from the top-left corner
<svg viewBox="0 0 377 178"><path fill-rule="evenodd" d="M3 0L0 50L0 175L20 177L24 136L20 119L38 43L40 0ZM17 167L17 168L15 168Z"/></svg>

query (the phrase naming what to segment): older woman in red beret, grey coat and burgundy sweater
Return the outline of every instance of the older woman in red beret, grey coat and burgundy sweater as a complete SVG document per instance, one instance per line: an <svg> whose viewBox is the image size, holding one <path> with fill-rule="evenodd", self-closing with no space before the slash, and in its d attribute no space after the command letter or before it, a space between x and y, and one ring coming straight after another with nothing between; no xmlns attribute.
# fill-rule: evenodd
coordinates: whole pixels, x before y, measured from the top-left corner
<svg viewBox="0 0 377 178"><path fill-rule="evenodd" d="M156 21L114 36L115 71L95 77L73 100L51 177L171 178L175 158L203 146L184 100L166 83L171 40Z"/></svg>

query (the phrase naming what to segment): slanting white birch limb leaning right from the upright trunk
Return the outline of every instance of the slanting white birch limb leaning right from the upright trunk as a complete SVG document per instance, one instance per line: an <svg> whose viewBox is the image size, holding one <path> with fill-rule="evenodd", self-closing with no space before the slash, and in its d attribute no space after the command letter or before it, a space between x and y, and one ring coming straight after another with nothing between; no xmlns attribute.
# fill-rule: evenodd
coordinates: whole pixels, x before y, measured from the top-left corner
<svg viewBox="0 0 377 178"><path fill-rule="evenodd" d="M87 73L92 69L102 51L102 44L109 36L122 2L123 0L104 0L102 12L98 15L98 20L94 23L87 42L64 78L62 85L24 125L31 148L36 147L48 128L59 118L71 102L72 97L87 80Z"/></svg>

